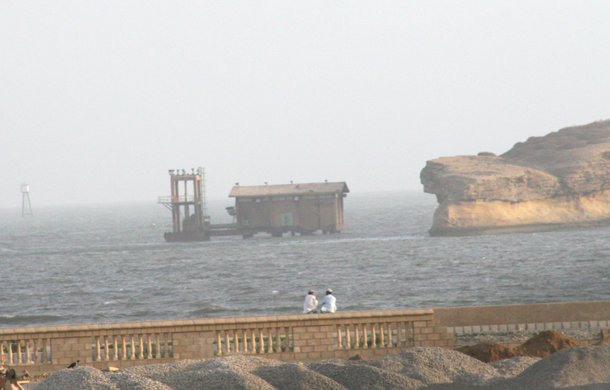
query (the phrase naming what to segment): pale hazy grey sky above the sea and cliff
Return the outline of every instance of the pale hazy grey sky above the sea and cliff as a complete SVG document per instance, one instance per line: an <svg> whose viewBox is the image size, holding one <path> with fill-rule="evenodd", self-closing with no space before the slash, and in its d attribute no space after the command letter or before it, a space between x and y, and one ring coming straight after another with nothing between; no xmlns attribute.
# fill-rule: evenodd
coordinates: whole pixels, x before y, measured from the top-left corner
<svg viewBox="0 0 610 390"><path fill-rule="evenodd" d="M607 1L0 1L0 207L421 190L426 160L610 118Z"/></svg>

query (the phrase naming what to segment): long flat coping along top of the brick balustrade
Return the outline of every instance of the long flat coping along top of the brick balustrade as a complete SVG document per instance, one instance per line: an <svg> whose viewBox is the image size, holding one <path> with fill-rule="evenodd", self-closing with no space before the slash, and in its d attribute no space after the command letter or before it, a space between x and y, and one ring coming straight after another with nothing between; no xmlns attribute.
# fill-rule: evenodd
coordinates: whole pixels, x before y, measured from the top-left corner
<svg viewBox="0 0 610 390"><path fill-rule="evenodd" d="M64 331L97 331L109 329L150 329L165 327L192 327L215 326L222 324L258 324L263 322L304 321L318 319L349 319L349 318L375 318L393 317L398 315L433 315L433 309L402 309L402 310L375 310L366 312L336 312L326 314L299 314L299 315L266 315L257 317L213 317L196 319L172 319L141 322L107 322L100 324L71 324L47 325L42 327L16 327L0 328L1 334L34 334Z"/></svg>

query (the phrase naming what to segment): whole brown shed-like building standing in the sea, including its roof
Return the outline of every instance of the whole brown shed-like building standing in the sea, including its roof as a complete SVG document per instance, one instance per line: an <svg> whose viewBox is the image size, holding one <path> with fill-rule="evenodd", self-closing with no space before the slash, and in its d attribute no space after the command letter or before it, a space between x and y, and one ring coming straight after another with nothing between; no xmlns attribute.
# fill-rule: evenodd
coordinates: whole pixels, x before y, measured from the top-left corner
<svg viewBox="0 0 610 390"><path fill-rule="evenodd" d="M229 193L235 198L237 230L244 238L255 233L313 234L337 233L345 226L343 198L349 189L343 181L281 185L236 185Z"/></svg>

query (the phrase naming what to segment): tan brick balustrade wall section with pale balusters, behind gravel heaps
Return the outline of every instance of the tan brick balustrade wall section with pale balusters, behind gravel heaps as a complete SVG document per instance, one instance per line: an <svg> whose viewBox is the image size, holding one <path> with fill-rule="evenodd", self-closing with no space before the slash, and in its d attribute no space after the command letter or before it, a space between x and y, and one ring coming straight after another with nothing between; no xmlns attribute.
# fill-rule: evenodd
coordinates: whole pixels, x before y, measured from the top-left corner
<svg viewBox="0 0 610 390"><path fill-rule="evenodd" d="M431 309L182 319L0 329L0 361L53 372L179 359L261 355L285 361L387 355L412 346L453 348Z"/></svg>

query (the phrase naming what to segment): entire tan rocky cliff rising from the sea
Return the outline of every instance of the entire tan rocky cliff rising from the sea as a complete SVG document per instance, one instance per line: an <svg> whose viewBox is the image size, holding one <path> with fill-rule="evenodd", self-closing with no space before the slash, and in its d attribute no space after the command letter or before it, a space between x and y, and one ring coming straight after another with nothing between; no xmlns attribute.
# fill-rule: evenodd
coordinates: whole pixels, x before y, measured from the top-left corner
<svg viewBox="0 0 610 390"><path fill-rule="evenodd" d="M495 156L441 157L421 170L436 195L431 235L610 222L610 120L518 142Z"/></svg>

